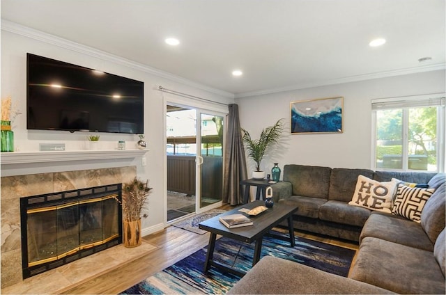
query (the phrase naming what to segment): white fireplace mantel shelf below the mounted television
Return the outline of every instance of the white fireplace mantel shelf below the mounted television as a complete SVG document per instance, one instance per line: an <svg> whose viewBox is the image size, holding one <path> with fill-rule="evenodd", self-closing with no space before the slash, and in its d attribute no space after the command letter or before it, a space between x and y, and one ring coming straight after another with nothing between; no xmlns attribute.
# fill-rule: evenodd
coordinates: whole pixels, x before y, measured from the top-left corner
<svg viewBox="0 0 446 295"><path fill-rule="evenodd" d="M54 152L7 152L1 154L1 166L9 164L65 162L98 159L130 159L148 150L78 150Z"/></svg>

